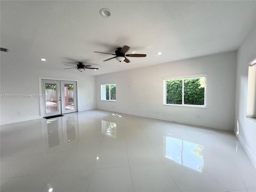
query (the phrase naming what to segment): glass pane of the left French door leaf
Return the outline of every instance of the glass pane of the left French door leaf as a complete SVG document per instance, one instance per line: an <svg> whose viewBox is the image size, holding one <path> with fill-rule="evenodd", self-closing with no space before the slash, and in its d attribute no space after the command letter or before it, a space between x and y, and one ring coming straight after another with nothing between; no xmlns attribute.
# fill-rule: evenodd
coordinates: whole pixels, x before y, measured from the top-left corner
<svg viewBox="0 0 256 192"><path fill-rule="evenodd" d="M58 112L56 84L45 84L45 94L46 113Z"/></svg>

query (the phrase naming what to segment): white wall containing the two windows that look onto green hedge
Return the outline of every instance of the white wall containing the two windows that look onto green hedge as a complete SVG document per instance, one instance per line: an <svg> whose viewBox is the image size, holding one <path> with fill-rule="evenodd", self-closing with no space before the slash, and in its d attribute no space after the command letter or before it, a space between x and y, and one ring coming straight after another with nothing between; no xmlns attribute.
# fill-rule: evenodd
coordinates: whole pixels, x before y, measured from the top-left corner
<svg viewBox="0 0 256 192"><path fill-rule="evenodd" d="M163 77L201 73L207 73L206 108L163 105ZM235 51L105 74L96 76L96 108L233 131L235 81ZM106 82L116 82L116 102L101 101Z"/></svg>

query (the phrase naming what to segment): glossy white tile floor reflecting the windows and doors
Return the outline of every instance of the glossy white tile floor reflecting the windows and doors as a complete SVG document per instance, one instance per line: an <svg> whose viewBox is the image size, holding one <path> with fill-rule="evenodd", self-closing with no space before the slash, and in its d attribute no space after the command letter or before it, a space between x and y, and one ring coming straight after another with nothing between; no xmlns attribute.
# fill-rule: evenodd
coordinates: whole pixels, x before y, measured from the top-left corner
<svg viewBox="0 0 256 192"><path fill-rule="evenodd" d="M1 126L1 192L255 192L233 132L101 110Z"/></svg>

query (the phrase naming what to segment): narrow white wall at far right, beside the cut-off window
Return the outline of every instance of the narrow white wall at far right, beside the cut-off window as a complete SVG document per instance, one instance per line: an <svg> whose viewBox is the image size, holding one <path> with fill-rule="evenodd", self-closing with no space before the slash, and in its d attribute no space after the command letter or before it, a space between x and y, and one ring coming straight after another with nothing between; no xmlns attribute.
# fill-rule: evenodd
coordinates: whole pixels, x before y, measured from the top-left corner
<svg viewBox="0 0 256 192"><path fill-rule="evenodd" d="M246 118L248 60L256 53L256 29L252 28L237 52L236 112L234 133L256 167L256 124Z"/></svg>

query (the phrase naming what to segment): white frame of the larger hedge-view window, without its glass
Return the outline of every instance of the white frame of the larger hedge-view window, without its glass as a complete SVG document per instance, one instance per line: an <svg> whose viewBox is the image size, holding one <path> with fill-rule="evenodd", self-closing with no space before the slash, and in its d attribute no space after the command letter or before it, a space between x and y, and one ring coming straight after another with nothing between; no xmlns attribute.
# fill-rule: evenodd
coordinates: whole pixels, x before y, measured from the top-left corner
<svg viewBox="0 0 256 192"><path fill-rule="evenodd" d="M184 104L184 79L188 78L200 78L204 77L205 78L205 86L204 86L204 105L191 105L191 104ZM178 80L182 79L182 104L168 104L166 103L166 80ZM163 77L163 82L164 82L164 102L163 105L167 106L186 106L186 107L199 107L199 108L206 108L206 89L207 89L207 74L202 73L202 74L192 74L192 75L183 75L183 76L172 76L172 77Z"/></svg>

